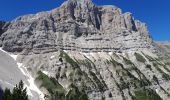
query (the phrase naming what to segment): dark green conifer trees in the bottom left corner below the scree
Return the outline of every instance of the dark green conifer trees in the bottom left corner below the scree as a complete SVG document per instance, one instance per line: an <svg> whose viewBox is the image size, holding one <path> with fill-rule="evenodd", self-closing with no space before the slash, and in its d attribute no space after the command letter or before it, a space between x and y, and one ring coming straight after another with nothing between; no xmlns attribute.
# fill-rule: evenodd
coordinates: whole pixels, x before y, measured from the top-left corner
<svg viewBox="0 0 170 100"><path fill-rule="evenodd" d="M6 88L3 95L3 100L28 100L27 90L24 88L24 83L19 82L11 93L11 91Z"/></svg>

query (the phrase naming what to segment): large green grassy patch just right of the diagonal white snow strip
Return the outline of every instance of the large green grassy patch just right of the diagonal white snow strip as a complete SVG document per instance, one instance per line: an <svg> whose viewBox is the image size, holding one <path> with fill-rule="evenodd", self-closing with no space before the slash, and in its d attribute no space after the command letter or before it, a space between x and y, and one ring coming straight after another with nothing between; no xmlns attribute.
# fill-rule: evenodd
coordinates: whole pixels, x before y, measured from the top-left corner
<svg viewBox="0 0 170 100"><path fill-rule="evenodd" d="M40 87L46 88L53 98L59 98L60 100L65 99L65 90L55 78L49 78L41 71L38 72L38 75L37 79L42 81Z"/></svg>

